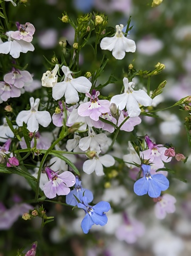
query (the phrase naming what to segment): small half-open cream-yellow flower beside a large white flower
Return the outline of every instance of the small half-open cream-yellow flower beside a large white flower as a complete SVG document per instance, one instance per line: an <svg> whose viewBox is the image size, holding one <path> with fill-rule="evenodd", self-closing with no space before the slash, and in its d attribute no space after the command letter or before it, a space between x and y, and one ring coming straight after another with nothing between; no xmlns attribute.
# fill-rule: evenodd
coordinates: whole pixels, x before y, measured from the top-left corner
<svg viewBox="0 0 191 256"><path fill-rule="evenodd" d="M54 69L52 71L46 71L46 73L43 74L43 77L41 79L42 86L44 87L54 87L54 85L57 83L57 71L59 70L59 65L56 64Z"/></svg>

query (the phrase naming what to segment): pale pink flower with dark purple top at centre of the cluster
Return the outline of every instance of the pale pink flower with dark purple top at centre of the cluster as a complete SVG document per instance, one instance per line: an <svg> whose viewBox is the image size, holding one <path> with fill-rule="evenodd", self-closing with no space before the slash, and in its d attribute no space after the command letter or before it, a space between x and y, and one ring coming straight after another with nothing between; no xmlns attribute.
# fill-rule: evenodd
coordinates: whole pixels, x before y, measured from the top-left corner
<svg viewBox="0 0 191 256"><path fill-rule="evenodd" d="M86 96L90 98L90 102L82 103L78 107L78 114L81 115L81 117L90 117L94 121L98 121L102 113L110 112L109 100L99 100L99 95L99 91L95 89L92 90L92 95L86 93Z"/></svg>

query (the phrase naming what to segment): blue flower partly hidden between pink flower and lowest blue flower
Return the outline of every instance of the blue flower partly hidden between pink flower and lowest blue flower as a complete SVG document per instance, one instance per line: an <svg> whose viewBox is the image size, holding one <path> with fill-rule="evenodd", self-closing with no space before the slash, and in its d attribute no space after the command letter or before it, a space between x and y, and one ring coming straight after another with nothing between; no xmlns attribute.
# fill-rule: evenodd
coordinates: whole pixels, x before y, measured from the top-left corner
<svg viewBox="0 0 191 256"><path fill-rule="evenodd" d="M87 197L87 203L90 203L94 198L93 193L90 190L81 187L81 181L78 176L76 176L74 189L66 196L66 203L68 205L76 206L78 204L78 201L74 196L76 196L80 201L82 201L83 196Z"/></svg>

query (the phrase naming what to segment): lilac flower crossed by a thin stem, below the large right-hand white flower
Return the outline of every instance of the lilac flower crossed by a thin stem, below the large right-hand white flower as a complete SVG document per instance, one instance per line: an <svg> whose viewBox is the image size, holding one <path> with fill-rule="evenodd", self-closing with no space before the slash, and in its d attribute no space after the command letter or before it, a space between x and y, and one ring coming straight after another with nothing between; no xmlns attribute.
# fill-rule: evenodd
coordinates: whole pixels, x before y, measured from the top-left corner
<svg viewBox="0 0 191 256"><path fill-rule="evenodd" d="M118 127L121 123L128 117L128 112L122 110L118 120ZM141 119L139 117L129 118L126 122L123 123L120 130L124 131L132 131L134 130L134 126L139 125L141 123Z"/></svg>

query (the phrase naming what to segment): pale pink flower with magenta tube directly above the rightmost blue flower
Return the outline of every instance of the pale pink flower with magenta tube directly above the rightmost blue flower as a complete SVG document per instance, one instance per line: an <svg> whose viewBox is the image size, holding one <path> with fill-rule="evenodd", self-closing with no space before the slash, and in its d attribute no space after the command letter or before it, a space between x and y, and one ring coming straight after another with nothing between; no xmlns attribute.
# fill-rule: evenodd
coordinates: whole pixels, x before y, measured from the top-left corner
<svg viewBox="0 0 191 256"><path fill-rule="evenodd" d="M151 141L150 137L145 136L145 141L148 145L148 149L140 152L140 156L144 159L148 159L152 166L151 168L159 169L164 167L163 162L170 162L171 157L166 157L164 155L167 148L165 148L162 144L155 144Z"/></svg>

